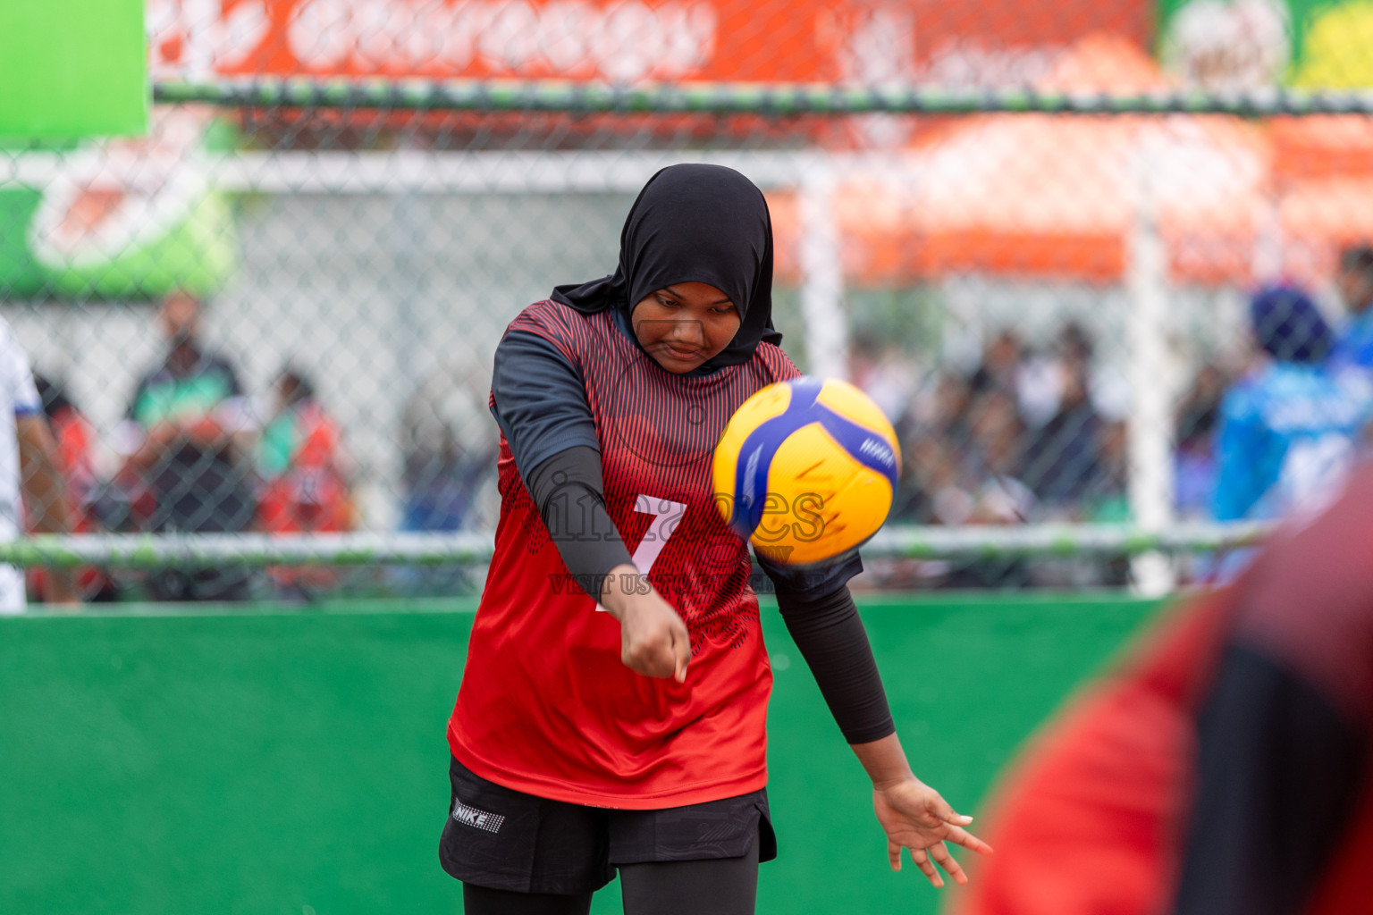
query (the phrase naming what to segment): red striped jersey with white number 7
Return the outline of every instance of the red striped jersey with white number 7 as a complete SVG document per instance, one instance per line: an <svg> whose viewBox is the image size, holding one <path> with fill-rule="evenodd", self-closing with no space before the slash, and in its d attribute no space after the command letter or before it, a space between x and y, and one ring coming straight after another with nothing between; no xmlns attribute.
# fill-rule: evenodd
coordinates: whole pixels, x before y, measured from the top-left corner
<svg viewBox="0 0 1373 915"><path fill-rule="evenodd" d="M796 366L761 343L746 364L673 375L611 311L555 302L530 306L509 329L549 340L579 372L605 510L685 621L692 658L685 683L621 663L619 623L571 580L503 436L496 554L448 726L453 756L507 787L596 807L758 790L772 671L748 549L715 508L711 455L735 410Z"/></svg>

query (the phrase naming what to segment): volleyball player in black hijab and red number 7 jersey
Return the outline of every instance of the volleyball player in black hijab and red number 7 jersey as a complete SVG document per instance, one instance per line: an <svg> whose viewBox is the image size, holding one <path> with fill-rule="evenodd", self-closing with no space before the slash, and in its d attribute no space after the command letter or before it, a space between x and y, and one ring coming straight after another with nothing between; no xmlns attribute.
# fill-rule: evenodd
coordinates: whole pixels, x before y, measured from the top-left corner
<svg viewBox="0 0 1373 915"><path fill-rule="evenodd" d="M616 868L626 915L754 911L776 855L772 675L711 451L748 395L798 375L772 270L758 188L673 166L634 202L615 273L557 287L497 348L501 514L439 844L468 914L588 912ZM965 881L945 842L990 849L906 763L849 594L858 558L763 568L872 778L891 866L908 848L935 886L935 864Z"/></svg>

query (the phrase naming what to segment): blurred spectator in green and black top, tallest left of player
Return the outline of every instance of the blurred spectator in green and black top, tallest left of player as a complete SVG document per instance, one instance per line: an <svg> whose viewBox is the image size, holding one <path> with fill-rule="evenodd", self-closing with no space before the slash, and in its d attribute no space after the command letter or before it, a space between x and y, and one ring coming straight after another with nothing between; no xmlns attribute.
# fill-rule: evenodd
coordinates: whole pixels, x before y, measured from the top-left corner
<svg viewBox="0 0 1373 915"><path fill-rule="evenodd" d="M157 532L240 532L253 525L254 423L233 366L200 342L200 302L174 292L158 311L168 354L129 403L124 476L140 490L137 525ZM243 599L246 569L163 569L159 601Z"/></svg>

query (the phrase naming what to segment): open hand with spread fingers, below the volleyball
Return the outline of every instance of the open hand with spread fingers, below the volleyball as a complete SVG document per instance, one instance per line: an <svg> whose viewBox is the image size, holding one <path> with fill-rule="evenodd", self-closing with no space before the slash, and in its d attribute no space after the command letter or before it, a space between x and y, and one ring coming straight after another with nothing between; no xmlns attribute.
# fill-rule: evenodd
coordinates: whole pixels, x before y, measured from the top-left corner
<svg viewBox="0 0 1373 915"><path fill-rule="evenodd" d="M956 883L967 883L968 875L945 842L956 842L982 855L991 853L990 845L964 829L972 818L956 813L939 792L919 778L873 787L872 805L887 833L887 857L894 871L901 870L901 849L909 848L910 860L935 886L943 886L943 877L935 864Z"/></svg>

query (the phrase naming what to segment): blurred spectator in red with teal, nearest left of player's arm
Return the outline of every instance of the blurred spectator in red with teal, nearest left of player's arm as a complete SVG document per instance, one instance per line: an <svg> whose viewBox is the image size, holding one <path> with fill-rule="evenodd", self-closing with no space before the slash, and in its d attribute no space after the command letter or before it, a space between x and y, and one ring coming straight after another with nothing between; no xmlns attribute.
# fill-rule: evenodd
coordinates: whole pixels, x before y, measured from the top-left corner
<svg viewBox="0 0 1373 915"><path fill-rule="evenodd" d="M276 381L276 410L262 429L258 525L269 534L325 534L351 528L342 432L294 369Z"/></svg>

